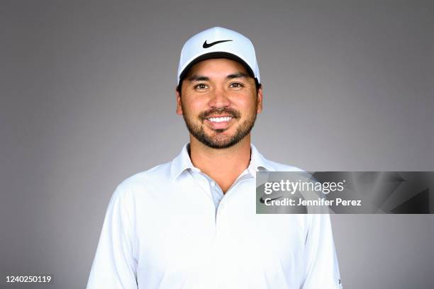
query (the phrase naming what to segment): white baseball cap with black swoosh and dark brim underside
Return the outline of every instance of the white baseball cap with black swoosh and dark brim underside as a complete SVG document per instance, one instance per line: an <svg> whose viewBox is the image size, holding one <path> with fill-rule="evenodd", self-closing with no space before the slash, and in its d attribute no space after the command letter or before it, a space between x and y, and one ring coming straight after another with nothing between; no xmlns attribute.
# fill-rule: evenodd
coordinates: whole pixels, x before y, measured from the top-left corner
<svg viewBox="0 0 434 289"><path fill-rule="evenodd" d="M213 27L185 42L179 57L178 85L194 64L211 58L228 58L240 62L260 83L255 48L250 39L233 30Z"/></svg>

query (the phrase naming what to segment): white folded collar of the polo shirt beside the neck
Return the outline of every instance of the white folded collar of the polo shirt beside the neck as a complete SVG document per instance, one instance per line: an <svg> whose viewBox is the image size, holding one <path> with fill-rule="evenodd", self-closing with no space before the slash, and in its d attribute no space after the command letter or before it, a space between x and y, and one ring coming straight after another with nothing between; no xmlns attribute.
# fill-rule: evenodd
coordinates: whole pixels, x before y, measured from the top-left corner
<svg viewBox="0 0 434 289"><path fill-rule="evenodd" d="M170 166L170 175L172 181L176 180L187 169L198 172L200 171L191 162L189 149L190 144L185 144L178 156L172 160ZM265 159L265 157L260 154L254 145L250 144L250 149L252 150L252 153L250 154L250 164L247 167L247 171L249 171L252 176L255 176L257 171L275 171L269 160Z"/></svg>

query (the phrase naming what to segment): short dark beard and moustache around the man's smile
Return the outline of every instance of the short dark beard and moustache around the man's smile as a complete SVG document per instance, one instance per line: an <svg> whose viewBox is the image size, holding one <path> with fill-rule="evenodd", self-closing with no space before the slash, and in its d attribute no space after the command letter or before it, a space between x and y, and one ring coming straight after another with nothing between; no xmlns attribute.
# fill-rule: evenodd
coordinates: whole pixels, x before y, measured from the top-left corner
<svg viewBox="0 0 434 289"><path fill-rule="evenodd" d="M186 110L184 108L184 105L182 104L182 111L183 118L185 120L185 124L187 125L187 129L193 135L199 142L203 143L207 147L211 147L213 149L226 149L228 147L232 147L233 145L236 145L240 140L243 140L245 136L247 136L250 131L253 128L253 125L255 125L256 120L256 110L252 111L250 118L247 118L243 121L243 123L240 123L238 125L237 130L235 131L234 135L227 136L223 135L223 132L226 131L226 128L224 129L218 129L213 130L213 135L208 135L205 132L203 122L207 118L208 115L230 115L233 117L233 119L237 120L240 118L240 113L238 111L235 111L233 108L221 108L221 109L212 109L210 111L206 111L204 113L201 113L199 115L199 120L202 124L196 125L191 121L191 116L187 115Z"/></svg>

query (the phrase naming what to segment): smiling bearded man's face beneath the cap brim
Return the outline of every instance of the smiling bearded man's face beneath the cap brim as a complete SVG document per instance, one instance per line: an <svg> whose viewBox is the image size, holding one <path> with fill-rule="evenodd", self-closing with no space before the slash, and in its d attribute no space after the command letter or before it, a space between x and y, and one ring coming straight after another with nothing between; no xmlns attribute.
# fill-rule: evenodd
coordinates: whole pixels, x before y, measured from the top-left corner
<svg viewBox="0 0 434 289"><path fill-rule="evenodd" d="M187 128L208 147L232 147L250 134L262 111L262 89L245 67L223 58L195 64L177 91L177 113Z"/></svg>

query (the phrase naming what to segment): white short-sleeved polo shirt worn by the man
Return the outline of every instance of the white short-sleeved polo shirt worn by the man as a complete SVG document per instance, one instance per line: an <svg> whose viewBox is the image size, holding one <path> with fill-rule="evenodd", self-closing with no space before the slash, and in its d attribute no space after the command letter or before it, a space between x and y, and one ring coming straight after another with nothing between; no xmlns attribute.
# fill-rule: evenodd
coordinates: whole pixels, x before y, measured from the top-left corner
<svg viewBox="0 0 434 289"><path fill-rule="evenodd" d="M256 214L256 171L300 169L251 145L223 195L187 146L118 185L87 289L342 288L329 215Z"/></svg>

